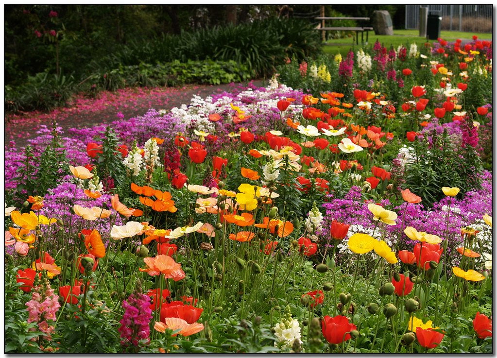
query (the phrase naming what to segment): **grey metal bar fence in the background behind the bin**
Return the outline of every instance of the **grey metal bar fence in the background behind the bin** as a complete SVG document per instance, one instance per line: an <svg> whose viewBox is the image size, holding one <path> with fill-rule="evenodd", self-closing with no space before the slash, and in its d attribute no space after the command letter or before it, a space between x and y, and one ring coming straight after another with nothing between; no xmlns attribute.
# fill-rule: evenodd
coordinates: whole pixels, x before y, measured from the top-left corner
<svg viewBox="0 0 497 358"><path fill-rule="evenodd" d="M493 5L406 5L406 29L419 26L419 7L442 16L442 30L492 33Z"/></svg>

